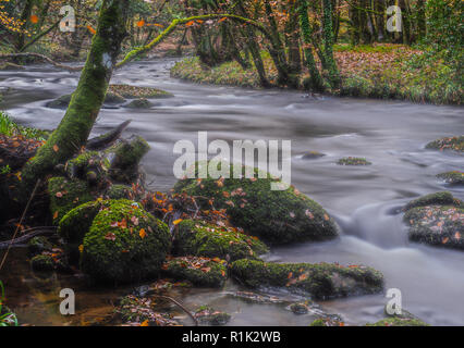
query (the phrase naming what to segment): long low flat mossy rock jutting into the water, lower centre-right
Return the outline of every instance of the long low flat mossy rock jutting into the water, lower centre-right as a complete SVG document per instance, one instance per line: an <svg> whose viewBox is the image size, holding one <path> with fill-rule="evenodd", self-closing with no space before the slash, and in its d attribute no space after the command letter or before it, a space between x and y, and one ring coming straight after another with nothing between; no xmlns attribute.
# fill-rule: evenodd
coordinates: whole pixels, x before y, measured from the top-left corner
<svg viewBox="0 0 464 348"><path fill-rule="evenodd" d="M286 287L305 291L314 299L380 293L383 276L367 266L342 266L330 263L269 263L239 260L231 264L232 276L246 286Z"/></svg>

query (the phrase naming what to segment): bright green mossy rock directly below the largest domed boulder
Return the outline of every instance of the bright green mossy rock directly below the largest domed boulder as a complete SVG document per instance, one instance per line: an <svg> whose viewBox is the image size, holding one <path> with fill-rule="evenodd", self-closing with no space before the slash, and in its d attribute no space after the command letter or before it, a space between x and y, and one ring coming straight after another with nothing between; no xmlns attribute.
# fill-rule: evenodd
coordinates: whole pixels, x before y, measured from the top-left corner
<svg viewBox="0 0 464 348"><path fill-rule="evenodd" d="M175 254L220 258L230 261L257 259L269 249L256 237L200 221L182 221L174 234Z"/></svg>

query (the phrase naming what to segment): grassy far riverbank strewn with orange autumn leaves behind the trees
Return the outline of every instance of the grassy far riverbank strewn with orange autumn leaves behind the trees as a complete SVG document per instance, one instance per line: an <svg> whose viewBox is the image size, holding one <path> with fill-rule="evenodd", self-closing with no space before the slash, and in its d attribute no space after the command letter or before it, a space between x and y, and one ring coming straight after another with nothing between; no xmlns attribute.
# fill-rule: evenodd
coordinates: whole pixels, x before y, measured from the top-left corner
<svg viewBox="0 0 464 348"><path fill-rule="evenodd" d="M269 82L279 87L271 58L267 52L261 57ZM392 44L335 45L334 57L342 87L327 90L330 95L435 104L463 103L462 76L440 57L430 58L408 46ZM196 57L185 58L172 67L171 76L199 84L260 87L256 70L243 70L235 61L210 69L202 65ZM303 71L301 82L307 76Z"/></svg>

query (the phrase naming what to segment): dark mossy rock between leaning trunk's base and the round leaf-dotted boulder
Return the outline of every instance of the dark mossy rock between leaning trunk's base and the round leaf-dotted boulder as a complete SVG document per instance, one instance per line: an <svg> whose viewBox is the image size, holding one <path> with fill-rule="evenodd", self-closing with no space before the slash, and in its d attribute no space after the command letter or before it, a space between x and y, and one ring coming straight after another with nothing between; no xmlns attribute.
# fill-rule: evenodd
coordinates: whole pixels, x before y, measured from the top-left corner
<svg viewBox="0 0 464 348"><path fill-rule="evenodd" d="M48 192L53 223L58 223L73 208L95 199L86 182L62 176L49 179Z"/></svg>

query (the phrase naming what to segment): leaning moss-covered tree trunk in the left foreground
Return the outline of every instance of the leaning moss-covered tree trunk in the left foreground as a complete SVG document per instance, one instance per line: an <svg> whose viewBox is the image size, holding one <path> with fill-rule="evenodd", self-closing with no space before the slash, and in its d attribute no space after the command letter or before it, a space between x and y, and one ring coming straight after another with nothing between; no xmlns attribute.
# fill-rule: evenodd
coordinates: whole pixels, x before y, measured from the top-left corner
<svg viewBox="0 0 464 348"><path fill-rule="evenodd" d="M130 0L105 0L84 70L70 105L58 128L24 166L23 183L30 190L37 178L50 173L86 144L108 89L121 42L126 36Z"/></svg>

